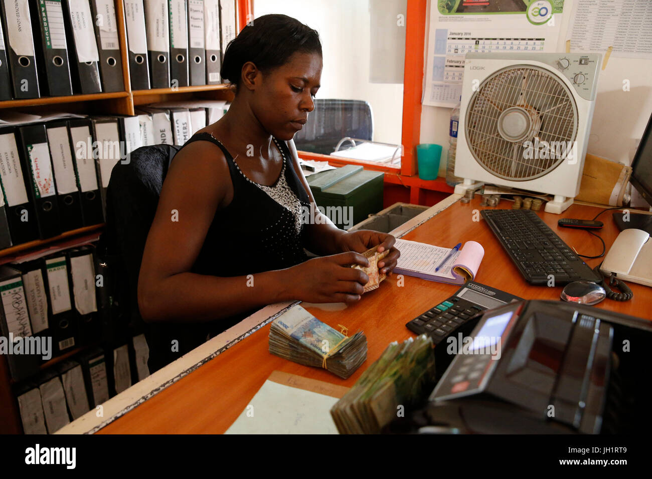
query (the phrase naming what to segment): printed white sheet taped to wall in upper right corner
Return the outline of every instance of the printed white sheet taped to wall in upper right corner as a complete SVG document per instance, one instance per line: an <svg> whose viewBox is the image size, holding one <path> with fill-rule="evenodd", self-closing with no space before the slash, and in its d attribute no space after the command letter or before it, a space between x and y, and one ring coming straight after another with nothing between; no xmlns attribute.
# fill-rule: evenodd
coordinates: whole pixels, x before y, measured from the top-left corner
<svg viewBox="0 0 652 479"><path fill-rule="evenodd" d="M575 0L568 36L571 51L625 58L652 58L650 0Z"/></svg>

